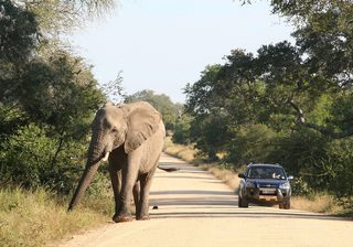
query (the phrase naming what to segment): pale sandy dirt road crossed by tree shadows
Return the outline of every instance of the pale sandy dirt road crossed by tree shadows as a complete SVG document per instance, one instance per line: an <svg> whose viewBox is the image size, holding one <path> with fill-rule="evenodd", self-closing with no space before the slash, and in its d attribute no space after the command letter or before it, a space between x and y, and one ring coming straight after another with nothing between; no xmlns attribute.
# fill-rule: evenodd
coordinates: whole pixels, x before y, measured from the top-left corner
<svg viewBox="0 0 353 247"><path fill-rule="evenodd" d="M353 246L353 222L277 207L237 207L222 182L178 159L163 155L150 205L151 221L106 226L74 236L63 247Z"/></svg>

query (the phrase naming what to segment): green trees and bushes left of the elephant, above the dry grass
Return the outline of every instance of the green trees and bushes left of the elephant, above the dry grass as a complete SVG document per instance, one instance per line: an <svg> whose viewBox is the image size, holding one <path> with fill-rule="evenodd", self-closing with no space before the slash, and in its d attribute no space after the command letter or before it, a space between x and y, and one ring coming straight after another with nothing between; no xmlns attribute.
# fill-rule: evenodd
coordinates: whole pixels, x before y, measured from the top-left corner
<svg viewBox="0 0 353 247"><path fill-rule="evenodd" d="M83 58L41 53L41 19L31 8L0 3L0 180L67 194L105 97Z"/></svg>

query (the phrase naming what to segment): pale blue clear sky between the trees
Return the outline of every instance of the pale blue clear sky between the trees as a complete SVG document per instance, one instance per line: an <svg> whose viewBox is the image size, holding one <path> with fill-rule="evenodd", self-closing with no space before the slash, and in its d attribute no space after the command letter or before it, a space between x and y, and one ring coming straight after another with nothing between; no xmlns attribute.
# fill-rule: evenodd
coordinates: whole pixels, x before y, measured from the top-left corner
<svg viewBox="0 0 353 247"><path fill-rule="evenodd" d="M71 40L98 83L122 71L127 94L151 89L184 103L183 88L207 65L223 64L235 49L256 53L264 44L292 41L292 31L265 0L120 0Z"/></svg>

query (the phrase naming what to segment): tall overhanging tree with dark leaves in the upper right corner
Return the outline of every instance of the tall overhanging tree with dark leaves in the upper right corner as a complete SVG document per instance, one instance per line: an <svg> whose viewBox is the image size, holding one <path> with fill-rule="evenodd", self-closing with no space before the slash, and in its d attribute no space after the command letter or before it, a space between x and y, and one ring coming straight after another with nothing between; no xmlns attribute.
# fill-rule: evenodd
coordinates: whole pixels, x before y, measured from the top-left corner
<svg viewBox="0 0 353 247"><path fill-rule="evenodd" d="M335 94L346 101L353 87L353 2L350 0L272 0L272 11L287 17L297 26L292 34L301 57L304 78L297 78L318 97ZM300 82L301 80L301 82ZM310 88L309 88L310 87ZM347 98L346 98L347 97ZM346 99L343 99L346 98ZM335 107L340 100L334 99ZM321 125L311 121L310 114L300 100L290 100L297 112L298 122L331 138L345 138L353 135L350 110L341 111L341 124L327 121ZM335 111L332 109L332 111Z"/></svg>

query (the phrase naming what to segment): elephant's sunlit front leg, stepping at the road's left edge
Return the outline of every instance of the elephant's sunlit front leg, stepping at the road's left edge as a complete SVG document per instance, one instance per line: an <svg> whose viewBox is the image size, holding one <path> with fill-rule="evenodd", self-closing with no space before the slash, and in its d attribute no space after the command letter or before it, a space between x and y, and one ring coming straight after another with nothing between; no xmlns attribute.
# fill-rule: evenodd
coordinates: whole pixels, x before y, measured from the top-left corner
<svg viewBox="0 0 353 247"><path fill-rule="evenodd" d="M132 187L137 181L140 164L140 155L131 155L128 158L127 165L122 168L122 184L119 195L121 202L121 210L114 216L115 222L130 222L130 202L132 196Z"/></svg>

